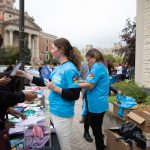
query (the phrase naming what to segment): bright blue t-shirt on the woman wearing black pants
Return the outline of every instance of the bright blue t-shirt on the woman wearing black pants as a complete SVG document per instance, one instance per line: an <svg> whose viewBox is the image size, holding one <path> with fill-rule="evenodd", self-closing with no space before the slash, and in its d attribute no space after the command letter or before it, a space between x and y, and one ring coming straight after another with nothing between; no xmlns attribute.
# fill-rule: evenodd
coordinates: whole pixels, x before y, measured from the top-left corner
<svg viewBox="0 0 150 150"><path fill-rule="evenodd" d="M91 90L87 90L89 112L102 113L108 110L109 73L102 63L95 63L90 68L87 77L88 83L95 84Z"/></svg>

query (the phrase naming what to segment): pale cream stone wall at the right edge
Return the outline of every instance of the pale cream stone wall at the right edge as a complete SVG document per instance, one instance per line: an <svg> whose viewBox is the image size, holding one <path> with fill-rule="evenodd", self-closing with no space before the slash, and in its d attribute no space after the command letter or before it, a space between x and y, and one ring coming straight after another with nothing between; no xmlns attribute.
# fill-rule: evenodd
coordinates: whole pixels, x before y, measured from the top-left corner
<svg viewBox="0 0 150 150"><path fill-rule="evenodd" d="M137 0L135 81L150 89L150 0Z"/></svg>

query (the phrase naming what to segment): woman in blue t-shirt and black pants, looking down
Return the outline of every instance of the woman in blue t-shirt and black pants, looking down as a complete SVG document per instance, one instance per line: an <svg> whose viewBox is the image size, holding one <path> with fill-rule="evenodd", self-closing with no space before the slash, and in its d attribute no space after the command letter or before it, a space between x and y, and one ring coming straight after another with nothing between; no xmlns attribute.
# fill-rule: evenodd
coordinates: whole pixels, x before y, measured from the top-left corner
<svg viewBox="0 0 150 150"><path fill-rule="evenodd" d="M104 57L95 48L86 53L89 66L89 75L86 82L80 83L81 88L86 88L86 117L95 136L97 150L104 150L102 123L105 112L108 110L109 73L104 64Z"/></svg>

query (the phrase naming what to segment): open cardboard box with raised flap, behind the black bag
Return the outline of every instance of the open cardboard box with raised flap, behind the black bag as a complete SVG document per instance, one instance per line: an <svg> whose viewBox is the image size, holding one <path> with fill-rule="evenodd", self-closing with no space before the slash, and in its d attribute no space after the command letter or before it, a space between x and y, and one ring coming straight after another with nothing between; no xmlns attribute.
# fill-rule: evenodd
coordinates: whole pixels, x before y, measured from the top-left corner
<svg viewBox="0 0 150 150"><path fill-rule="evenodd" d="M127 114L126 119L136 123L143 132L150 133L150 113L148 111L132 110Z"/></svg>

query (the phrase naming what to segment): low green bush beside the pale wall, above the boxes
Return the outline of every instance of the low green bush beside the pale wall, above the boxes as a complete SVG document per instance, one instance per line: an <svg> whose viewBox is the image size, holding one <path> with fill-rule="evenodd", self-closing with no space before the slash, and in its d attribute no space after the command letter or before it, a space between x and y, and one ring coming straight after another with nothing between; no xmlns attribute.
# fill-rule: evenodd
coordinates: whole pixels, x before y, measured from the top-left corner
<svg viewBox="0 0 150 150"><path fill-rule="evenodd" d="M120 90L123 95L131 96L136 99L138 103L145 102L147 93L143 87L139 87L134 81L123 81L114 84L117 90Z"/></svg>

